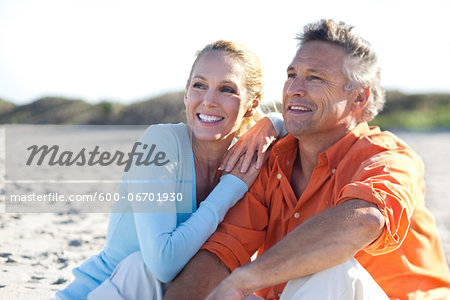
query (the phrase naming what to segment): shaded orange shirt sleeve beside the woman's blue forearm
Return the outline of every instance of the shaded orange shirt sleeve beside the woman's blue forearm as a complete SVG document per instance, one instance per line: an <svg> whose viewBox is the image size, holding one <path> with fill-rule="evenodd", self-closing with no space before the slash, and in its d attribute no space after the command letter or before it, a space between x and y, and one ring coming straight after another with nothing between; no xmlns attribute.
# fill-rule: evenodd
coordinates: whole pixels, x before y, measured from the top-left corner
<svg viewBox="0 0 450 300"><path fill-rule="evenodd" d="M269 219L268 204L264 199L267 174L265 164L244 198L230 209L201 248L217 255L230 271L250 262L264 242Z"/></svg>

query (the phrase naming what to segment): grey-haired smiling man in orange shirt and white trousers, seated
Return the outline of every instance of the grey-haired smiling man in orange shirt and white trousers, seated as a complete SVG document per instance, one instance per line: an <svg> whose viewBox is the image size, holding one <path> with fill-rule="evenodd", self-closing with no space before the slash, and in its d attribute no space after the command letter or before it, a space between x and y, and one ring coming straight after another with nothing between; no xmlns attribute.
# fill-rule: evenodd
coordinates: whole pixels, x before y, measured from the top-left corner
<svg viewBox="0 0 450 300"><path fill-rule="evenodd" d="M332 20L305 26L299 40L283 90L289 135L166 299L214 289L208 299L380 299L378 286L391 299L446 299L422 162L367 125L384 103L375 53Z"/></svg>

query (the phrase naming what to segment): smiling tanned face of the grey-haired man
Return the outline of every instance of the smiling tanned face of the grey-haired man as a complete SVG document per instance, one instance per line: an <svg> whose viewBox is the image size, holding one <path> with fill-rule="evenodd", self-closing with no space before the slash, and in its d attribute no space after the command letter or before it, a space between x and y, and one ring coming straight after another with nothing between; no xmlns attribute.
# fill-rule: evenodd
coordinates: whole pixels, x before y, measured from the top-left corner
<svg viewBox="0 0 450 300"><path fill-rule="evenodd" d="M307 42L299 49L283 88L284 124L290 134L326 138L352 126L354 95L344 88L345 57L342 47L328 42Z"/></svg>

